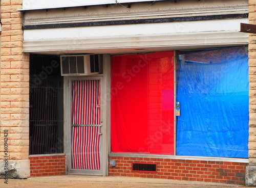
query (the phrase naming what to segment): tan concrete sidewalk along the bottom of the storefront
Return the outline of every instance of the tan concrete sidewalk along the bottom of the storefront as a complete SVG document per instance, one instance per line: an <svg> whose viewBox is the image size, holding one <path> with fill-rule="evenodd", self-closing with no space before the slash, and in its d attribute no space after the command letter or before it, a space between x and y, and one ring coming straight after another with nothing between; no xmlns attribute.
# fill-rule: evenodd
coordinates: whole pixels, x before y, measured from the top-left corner
<svg viewBox="0 0 256 188"><path fill-rule="evenodd" d="M139 178L123 176L45 176L31 177L28 179L8 179L8 184L0 179L0 187L37 188L37 187L86 187L86 188L149 188L149 187L170 187L170 188L232 188L245 187L244 185L206 183L198 181L180 181L157 178Z"/></svg>

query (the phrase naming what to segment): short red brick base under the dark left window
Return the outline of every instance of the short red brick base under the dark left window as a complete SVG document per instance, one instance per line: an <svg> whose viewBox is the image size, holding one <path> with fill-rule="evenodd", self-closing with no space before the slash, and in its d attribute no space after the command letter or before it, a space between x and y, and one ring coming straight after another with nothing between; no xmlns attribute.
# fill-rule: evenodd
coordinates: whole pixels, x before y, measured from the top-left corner
<svg viewBox="0 0 256 188"><path fill-rule="evenodd" d="M66 156L30 157L30 176L66 174Z"/></svg>

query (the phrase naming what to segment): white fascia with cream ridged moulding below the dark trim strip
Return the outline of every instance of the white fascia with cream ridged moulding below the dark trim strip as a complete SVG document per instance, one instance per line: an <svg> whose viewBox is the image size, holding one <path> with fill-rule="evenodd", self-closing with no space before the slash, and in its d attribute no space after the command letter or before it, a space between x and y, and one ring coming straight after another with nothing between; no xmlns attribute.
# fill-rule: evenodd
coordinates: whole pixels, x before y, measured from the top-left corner
<svg viewBox="0 0 256 188"><path fill-rule="evenodd" d="M89 26L24 31L24 52L118 53L248 44L248 19Z"/></svg>

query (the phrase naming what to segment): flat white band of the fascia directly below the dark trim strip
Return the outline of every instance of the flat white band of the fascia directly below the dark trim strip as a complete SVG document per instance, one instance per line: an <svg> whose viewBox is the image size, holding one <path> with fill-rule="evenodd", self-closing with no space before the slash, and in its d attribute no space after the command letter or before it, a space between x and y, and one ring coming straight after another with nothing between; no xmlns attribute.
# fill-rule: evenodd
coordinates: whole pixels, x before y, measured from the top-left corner
<svg viewBox="0 0 256 188"><path fill-rule="evenodd" d="M169 23L146 23L129 25L105 25L88 26L78 28L56 28L25 30L24 41L38 39L69 39L84 37L111 37L111 36L131 36L131 35L158 35L177 34L192 32L212 32L212 31L240 31L240 23L248 23L247 18L204 20L204 21L184 21Z"/></svg>

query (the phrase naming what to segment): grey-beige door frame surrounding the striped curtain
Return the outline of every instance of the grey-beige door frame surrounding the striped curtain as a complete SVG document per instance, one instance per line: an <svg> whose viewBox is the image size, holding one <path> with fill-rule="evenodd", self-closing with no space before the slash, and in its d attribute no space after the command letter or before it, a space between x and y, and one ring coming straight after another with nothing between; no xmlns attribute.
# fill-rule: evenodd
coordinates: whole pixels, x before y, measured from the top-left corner
<svg viewBox="0 0 256 188"><path fill-rule="evenodd" d="M103 105L103 100L106 93L106 86L104 84L104 76L102 74L99 75L93 75L93 76L65 76L65 86L66 86L66 92L65 92L65 145L66 145L66 167L68 174L77 174L77 175L96 175L96 176L106 176L108 174L107 171L107 165L108 165L108 146L109 142L106 138L108 138L108 121L106 118L106 112L108 105ZM100 170L79 170L79 169L71 169L71 82L72 80L84 80L84 79L98 79L100 80L100 97L101 97L101 115L100 115L100 121L103 121L101 123L101 138L100 138Z"/></svg>

